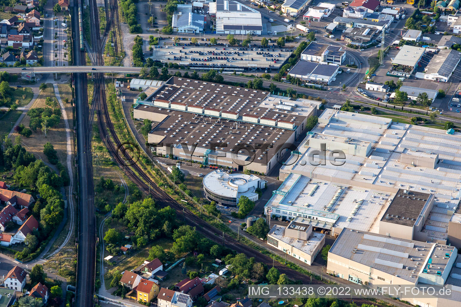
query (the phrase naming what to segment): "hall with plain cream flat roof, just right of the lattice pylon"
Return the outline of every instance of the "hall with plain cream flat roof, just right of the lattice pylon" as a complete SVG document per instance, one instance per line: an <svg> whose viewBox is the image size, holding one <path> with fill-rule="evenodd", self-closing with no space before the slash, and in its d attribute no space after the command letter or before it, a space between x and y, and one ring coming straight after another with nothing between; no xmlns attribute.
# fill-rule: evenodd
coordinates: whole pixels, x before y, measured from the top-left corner
<svg viewBox="0 0 461 307"><path fill-rule="evenodd" d="M425 52L424 48L403 45L392 60L392 74L409 76L413 73Z"/></svg>

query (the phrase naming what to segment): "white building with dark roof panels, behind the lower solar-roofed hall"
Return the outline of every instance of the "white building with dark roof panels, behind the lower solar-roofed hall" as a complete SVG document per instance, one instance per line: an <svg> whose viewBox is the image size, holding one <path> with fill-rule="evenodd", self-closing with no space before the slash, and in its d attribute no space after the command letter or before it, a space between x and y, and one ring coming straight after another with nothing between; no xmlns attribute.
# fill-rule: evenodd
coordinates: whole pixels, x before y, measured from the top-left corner
<svg viewBox="0 0 461 307"><path fill-rule="evenodd" d="M343 64L346 59L346 52L342 47L311 42L301 52L301 60L320 63Z"/></svg>

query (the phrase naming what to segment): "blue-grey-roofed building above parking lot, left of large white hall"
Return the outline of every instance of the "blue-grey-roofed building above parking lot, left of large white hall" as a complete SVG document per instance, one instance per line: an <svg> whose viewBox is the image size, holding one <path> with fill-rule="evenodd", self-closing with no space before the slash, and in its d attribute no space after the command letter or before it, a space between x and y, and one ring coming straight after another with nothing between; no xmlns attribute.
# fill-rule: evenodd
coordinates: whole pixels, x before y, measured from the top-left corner
<svg viewBox="0 0 461 307"><path fill-rule="evenodd" d="M200 33L205 28L205 16L192 12L191 4L178 4L171 27L178 33Z"/></svg>

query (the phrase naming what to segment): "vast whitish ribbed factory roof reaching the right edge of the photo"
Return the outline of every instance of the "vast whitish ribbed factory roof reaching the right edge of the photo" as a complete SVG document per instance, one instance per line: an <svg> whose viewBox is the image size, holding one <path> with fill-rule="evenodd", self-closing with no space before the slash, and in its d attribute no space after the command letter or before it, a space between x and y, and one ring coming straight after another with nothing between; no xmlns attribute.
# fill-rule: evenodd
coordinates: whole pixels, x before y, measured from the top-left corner
<svg viewBox="0 0 461 307"><path fill-rule="evenodd" d="M340 166L329 161L325 165L312 165L308 161L313 148L308 144L316 133L327 139L335 136L370 142L371 150L367 156L345 153L346 159ZM338 141L338 148L342 148L342 144ZM333 146L330 142L330 150ZM383 191L387 195L393 195L399 189L433 194L435 205L422 232L431 239L447 239L447 232L426 226L440 219L449 220L450 211L458 207L461 197L456 187L461 173L460 133L449 135L444 130L396 123L384 117L326 109L319 116L319 124L301 142L297 152L299 154L293 153L281 167L282 177L294 172L315 178L315 181L348 185L365 191ZM401 162L402 153L436 156L437 161L434 167L406 164ZM373 214L380 220L384 211L378 210ZM433 220L431 217L434 217Z"/></svg>

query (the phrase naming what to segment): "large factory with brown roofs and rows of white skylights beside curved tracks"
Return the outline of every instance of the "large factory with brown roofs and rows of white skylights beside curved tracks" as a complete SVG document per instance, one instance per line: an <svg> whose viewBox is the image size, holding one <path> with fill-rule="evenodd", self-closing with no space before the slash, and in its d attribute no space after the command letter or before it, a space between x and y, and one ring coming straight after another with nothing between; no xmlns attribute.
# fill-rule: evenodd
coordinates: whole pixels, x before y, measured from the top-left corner
<svg viewBox="0 0 461 307"><path fill-rule="evenodd" d="M157 155L266 174L305 132L317 104L244 87L171 77L134 105Z"/></svg>

